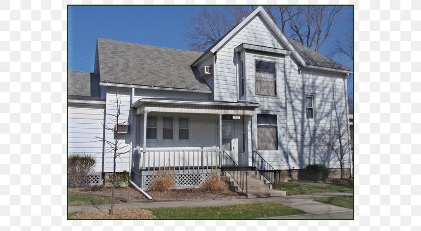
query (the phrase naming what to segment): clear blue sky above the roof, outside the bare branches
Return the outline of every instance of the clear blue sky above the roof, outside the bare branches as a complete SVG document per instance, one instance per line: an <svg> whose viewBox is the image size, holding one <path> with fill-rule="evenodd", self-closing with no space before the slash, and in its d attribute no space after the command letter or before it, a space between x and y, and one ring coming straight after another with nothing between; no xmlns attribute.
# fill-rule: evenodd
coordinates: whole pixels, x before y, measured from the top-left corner
<svg viewBox="0 0 421 231"><path fill-rule="evenodd" d="M98 37L187 50L188 45L182 33L188 27L188 17L202 7L69 6L68 68L93 71ZM352 7L344 12L345 16L352 13ZM352 33L352 27L352 22L344 20L333 31L337 34ZM329 45L324 45L320 53L324 54L328 49ZM350 63L339 62L351 66Z"/></svg>

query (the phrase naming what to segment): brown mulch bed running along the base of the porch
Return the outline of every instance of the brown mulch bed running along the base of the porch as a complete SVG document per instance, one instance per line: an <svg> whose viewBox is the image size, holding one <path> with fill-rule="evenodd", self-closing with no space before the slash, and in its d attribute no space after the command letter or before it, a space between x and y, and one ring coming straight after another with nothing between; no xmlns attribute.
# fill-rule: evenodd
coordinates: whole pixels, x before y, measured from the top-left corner
<svg viewBox="0 0 421 231"><path fill-rule="evenodd" d="M90 186L84 188L68 188L71 192L94 194L103 197L111 197L111 187ZM181 200L208 200L216 198L245 198L234 191L208 192L200 188L170 189L167 192L147 191L153 201L181 201ZM148 199L137 189L132 187L116 188L114 195L117 200L125 202L148 201Z"/></svg>

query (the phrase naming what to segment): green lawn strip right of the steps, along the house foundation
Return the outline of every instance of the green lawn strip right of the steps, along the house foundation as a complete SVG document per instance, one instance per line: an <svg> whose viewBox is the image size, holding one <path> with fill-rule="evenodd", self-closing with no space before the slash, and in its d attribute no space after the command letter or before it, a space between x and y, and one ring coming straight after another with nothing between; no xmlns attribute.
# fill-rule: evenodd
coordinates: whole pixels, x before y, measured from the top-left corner
<svg viewBox="0 0 421 231"><path fill-rule="evenodd" d="M281 190L286 195L315 194L319 192L353 192L354 185L349 183L318 183L318 182L291 182L281 183Z"/></svg>

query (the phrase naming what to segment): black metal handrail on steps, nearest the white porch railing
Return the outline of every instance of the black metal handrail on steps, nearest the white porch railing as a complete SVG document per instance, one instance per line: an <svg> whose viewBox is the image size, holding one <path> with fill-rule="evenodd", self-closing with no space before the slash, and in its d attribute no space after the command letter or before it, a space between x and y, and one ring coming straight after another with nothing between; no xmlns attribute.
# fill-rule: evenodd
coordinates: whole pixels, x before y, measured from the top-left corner
<svg viewBox="0 0 421 231"><path fill-rule="evenodd" d="M247 185L247 171L242 170L237 163L226 153L226 151L222 151L221 157L219 158L221 162L221 170L226 171L231 175L233 180L238 184L241 188L241 192L248 192L248 185Z"/></svg>

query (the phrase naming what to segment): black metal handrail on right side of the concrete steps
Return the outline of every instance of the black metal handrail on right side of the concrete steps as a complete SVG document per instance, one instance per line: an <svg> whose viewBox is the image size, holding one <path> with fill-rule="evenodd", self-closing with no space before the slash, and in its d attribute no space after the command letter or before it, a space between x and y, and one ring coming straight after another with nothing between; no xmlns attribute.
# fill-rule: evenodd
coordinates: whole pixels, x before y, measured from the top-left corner
<svg viewBox="0 0 421 231"><path fill-rule="evenodd" d="M253 167L255 167L256 170L259 171L260 175L262 175L264 178L266 178L266 180L271 182L273 189L281 190L280 172L277 172L275 168L272 167L272 165L267 163L256 150L253 150L252 164Z"/></svg>

